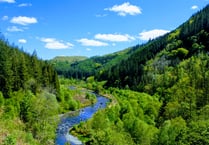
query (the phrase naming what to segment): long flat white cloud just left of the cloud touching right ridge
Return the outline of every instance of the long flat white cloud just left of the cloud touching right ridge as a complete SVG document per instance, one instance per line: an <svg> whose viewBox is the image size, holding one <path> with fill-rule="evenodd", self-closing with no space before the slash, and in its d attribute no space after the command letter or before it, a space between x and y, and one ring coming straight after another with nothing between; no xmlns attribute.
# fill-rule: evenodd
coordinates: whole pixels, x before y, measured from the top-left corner
<svg viewBox="0 0 209 145"><path fill-rule="evenodd" d="M126 41L131 41L135 40L134 37L125 34L96 34L95 35L96 39L104 40L104 41L112 41L112 42L126 42Z"/></svg>

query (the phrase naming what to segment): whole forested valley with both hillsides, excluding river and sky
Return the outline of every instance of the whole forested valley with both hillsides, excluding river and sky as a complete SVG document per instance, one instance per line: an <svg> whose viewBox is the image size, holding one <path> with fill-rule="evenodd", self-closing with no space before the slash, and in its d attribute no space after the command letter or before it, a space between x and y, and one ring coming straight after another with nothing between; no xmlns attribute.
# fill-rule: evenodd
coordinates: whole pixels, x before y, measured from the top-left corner
<svg viewBox="0 0 209 145"><path fill-rule="evenodd" d="M104 56L44 61L3 36L0 52L0 144L54 144L58 115L95 102L71 85L110 99L70 130L85 144L209 144L209 5L164 36Z"/></svg>

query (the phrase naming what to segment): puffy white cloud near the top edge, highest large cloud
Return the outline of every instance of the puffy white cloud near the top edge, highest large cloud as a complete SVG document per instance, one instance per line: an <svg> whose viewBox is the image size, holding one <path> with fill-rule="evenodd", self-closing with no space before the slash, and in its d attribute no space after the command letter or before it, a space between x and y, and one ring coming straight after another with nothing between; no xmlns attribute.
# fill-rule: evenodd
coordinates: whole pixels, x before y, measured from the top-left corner
<svg viewBox="0 0 209 145"><path fill-rule="evenodd" d="M105 10L113 11L118 13L120 16L126 16L126 15L137 15L141 14L141 8L131 5L129 2L125 2L121 5L114 5L111 8L105 8Z"/></svg>

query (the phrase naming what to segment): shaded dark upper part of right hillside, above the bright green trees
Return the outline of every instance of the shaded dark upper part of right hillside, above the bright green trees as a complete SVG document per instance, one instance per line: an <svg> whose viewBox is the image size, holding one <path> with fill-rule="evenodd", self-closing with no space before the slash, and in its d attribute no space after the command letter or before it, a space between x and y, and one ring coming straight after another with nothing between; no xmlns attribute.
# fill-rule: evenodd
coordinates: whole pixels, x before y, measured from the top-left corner
<svg viewBox="0 0 209 145"><path fill-rule="evenodd" d="M147 61L157 57L161 51L161 62L167 66L175 66L180 61L200 52L207 53L209 32L209 6L193 15L187 22L171 33L139 46L137 51L127 59L119 62L110 69L99 73L98 80L107 80L107 86L130 87L142 90L144 66ZM164 67L165 64L161 65Z"/></svg>

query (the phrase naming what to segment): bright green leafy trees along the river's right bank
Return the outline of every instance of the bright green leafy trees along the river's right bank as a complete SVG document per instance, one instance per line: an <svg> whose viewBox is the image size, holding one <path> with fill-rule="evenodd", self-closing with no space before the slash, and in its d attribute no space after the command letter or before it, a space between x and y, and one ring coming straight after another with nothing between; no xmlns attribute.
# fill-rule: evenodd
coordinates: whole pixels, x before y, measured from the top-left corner
<svg viewBox="0 0 209 145"><path fill-rule="evenodd" d="M151 144L158 131L153 123L157 114L151 108L160 109L158 99L130 90L109 91L118 104L99 110L86 125L76 127L75 131L85 132L91 144Z"/></svg>

